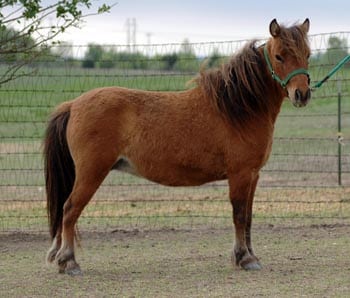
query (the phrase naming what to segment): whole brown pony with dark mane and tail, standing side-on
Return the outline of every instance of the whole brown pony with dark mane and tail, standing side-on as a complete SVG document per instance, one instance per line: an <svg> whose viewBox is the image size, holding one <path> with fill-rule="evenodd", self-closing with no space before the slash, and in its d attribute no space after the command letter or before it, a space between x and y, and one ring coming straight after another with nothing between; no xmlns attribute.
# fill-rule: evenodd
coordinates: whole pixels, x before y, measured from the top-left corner
<svg viewBox="0 0 350 298"><path fill-rule="evenodd" d="M190 90L99 88L56 109L44 154L53 240L47 260L56 261L59 272L81 274L75 225L113 169L171 186L228 179L232 260L261 268L250 236L259 171L283 99L304 106L310 98L309 20L291 27L273 20L269 29L266 44L250 42L220 69L203 70Z"/></svg>

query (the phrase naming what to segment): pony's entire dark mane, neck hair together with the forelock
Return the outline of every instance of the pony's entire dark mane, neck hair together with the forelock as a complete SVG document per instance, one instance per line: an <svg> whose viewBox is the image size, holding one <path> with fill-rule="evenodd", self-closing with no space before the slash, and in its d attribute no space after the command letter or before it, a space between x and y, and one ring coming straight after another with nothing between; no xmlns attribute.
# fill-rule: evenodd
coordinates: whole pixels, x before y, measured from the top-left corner
<svg viewBox="0 0 350 298"><path fill-rule="evenodd" d="M298 25L281 26L279 38L284 50L297 60L310 53L307 33ZM272 104L268 94L273 85L267 81L271 76L256 44L256 40L247 43L221 68L202 69L194 80L235 126L268 113Z"/></svg>

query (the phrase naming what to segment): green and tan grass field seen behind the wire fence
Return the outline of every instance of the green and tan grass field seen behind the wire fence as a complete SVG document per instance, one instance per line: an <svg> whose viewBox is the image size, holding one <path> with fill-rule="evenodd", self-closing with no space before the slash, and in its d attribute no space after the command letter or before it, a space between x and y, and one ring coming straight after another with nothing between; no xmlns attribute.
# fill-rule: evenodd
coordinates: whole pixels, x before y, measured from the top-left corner
<svg viewBox="0 0 350 298"><path fill-rule="evenodd" d="M0 71L4 68L0 67ZM329 69L311 69L311 77L317 81ZM194 74L155 71L132 70L86 70L81 68L40 68L30 77L20 78L0 88L0 211L6 218L2 221L0 230L13 230L16 227L36 230L45 225L45 200L43 186L43 159L41 155L42 137L46 121L53 108L60 102L77 97L84 91L101 86L123 86L145 90L184 90L186 83ZM342 69L337 78L341 84L342 96L342 131L344 143L350 133L350 99L349 81L350 69ZM302 109L293 107L288 101L282 107L281 115L276 123L273 154L261 176L260 186L268 187L334 187L338 182L338 142L337 142L337 78L324 84L313 93L310 104ZM350 151L348 146L342 146L343 184L350 184ZM130 187L137 186L137 187ZM136 190L137 189L137 190ZM210 192L207 191L210 189ZM170 221L172 224L179 220L180 226L193 224L197 219L220 218L230 216L228 204L210 201L208 210L203 207L201 200L205 197L226 198L226 188L218 190L210 188L174 189L155 187L142 179L130 175L113 173L104 182L102 190L96 195L101 204L91 205L92 210L86 212L86 226L89 222L98 221L108 225L111 218L118 218L123 226L136 221L145 223ZM333 191L325 191L330 195ZM290 198L292 193L279 193L279 198ZM269 200L275 196L268 191L261 197L267 203L260 205L258 217L272 214L276 217L309 216L319 207L307 209L291 208L284 212L287 205L277 205L277 209L269 209ZM176 204L168 202L151 202L153 198L180 200ZM186 203L181 198L194 198L197 202ZM309 196L310 197L310 196ZM118 203L111 206L115 200L132 198L145 203ZM295 195L296 200L298 195ZM313 201L318 201L317 195L311 195ZM113 204L111 204L113 200ZM333 199L332 199L333 200ZM341 192L334 198L334 204L342 200ZM19 203L14 203L18 201ZM215 201L215 199L214 199ZM28 202L27 204L25 202ZM319 203L322 206L326 203ZM266 206L265 206L266 205ZM290 206L293 204L291 203ZM23 206L25 208L23 208ZM186 207L187 206L187 207ZM206 204L204 204L206 206ZM288 205L289 206L289 205ZM319 216L341 214L348 216L348 204L338 205L327 212L320 211ZM344 207L345 206L345 207ZM287 208L287 209L288 209ZM307 211L302 212L303 208ZM321 208L322 209L322 208ZM149 212L158 210L157 212ZM289 210L289 209L288 209ZM339 210L345 210L339 211ZM273 212L272 212L273 211ZM140 213L141 212L141 213ZM144 215L142 215L142 212ZM323 212L323 213L322 213ZM225 215L224 215L225 214ZM93 220L90 220L93 218ZM23 219L23 222L21 222ZM195 219L195 220L194 220ZM199 222L202 222L200 219ZM166 224L167 225L167 224ZM171 226L171 224L170 224Z"/></svg>

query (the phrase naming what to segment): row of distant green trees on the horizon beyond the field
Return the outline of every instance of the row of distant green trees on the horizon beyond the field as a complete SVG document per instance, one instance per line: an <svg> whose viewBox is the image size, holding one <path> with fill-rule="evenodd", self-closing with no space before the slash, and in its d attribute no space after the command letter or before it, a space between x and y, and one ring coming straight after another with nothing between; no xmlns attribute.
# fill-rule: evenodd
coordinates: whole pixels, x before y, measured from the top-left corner
<svg viewBox="0 0 350 298"><path fill-rule="evenodd" d="M3 38L11 36L14 31L0 30L0 42ZM13 48L21 46L22 43L34 43L30 37L13 42ZM1 49L1 46L0 46ZM198 57L188 40L185 40L178 51L146 55L133 49L118 51L118 47L89 44L84 57L73 58L74 46L62 44L57 47L41 47L33 49L37 51L36 59L29 62L29 66L62 67L67 64L71 67L100 68L100 69L135 69L135 70L165 70L197 72L204 62L207 67L220 65L226 57L218 50L213 50L208 57ZM327 50L317 51L310 58L311 65L334 65L343 57L348 55L348 41L338 37L330 37ZM0 64L11 64L23 60L25 53L0 51ZM350 67L349 63L345 67Z"/></svg>

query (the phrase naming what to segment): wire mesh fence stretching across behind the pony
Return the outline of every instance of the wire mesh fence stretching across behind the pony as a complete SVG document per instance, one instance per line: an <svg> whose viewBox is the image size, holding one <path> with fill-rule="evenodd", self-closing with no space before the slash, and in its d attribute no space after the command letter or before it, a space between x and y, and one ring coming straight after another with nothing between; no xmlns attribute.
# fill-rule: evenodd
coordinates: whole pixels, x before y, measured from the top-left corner
<svg viewBox="0 0 350 298"><path fill-rule="evenodd" d="M313 81L348 52L344 44L349 34L311 36ZM200 65L214 67L245 43L100 46L102 54L90 64L91 48L62 46L22 70L29 76L1 85L0 232L47 230L42 138L57 104L101 86L184 90ZM0 75L6 67L0 64ZM307 108L284 104L256 193L256 220L350 221L349 80L350 68L345 66L313 93ZM170 188L112 172L84 211L80 226L187 228L231 221L225 181Z"/></svg>

